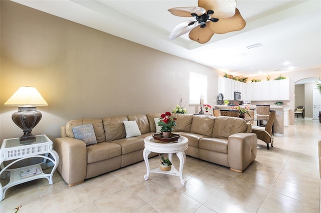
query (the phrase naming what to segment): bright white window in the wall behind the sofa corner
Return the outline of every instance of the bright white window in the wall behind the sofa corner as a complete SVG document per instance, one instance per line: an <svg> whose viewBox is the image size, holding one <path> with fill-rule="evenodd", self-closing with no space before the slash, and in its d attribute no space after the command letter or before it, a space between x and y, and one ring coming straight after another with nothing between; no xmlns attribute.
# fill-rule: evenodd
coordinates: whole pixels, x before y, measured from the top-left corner
<svg viewBox="0 0 321 213"><path fill-rule="evenodd" d="M200 104L201 95L207 103L207 75L190 71L190 104Z"/></svg>

